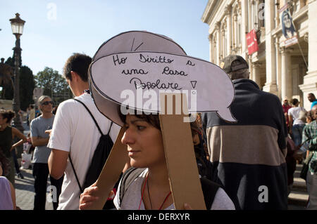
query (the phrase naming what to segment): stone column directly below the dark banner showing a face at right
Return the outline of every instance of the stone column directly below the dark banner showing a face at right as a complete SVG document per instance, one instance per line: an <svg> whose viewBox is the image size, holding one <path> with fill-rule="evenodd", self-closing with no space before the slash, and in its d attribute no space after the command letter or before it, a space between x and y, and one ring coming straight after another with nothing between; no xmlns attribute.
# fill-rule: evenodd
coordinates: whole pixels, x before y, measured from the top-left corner
<svg viewBox="0 0 317 224"><path fill-rule="evenodd" d="M280 48L281 57L281 98L285 97L292 99L292 66L290 50L282 47Z"/></svg>

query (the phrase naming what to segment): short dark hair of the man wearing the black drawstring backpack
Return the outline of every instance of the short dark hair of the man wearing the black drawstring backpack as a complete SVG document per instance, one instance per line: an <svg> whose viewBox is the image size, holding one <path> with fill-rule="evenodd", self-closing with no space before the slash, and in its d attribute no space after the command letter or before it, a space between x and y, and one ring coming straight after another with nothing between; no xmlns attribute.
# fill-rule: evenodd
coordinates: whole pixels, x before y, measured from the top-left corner
<svg viewBox="0 0 317 224"><path fill-rule="evenodd" d="M72 81L71 71L76 72L82 81L88 81L88 68L92 58L82 53L74 53L66 61L63 69L63 75L66 79Z"/></svg>

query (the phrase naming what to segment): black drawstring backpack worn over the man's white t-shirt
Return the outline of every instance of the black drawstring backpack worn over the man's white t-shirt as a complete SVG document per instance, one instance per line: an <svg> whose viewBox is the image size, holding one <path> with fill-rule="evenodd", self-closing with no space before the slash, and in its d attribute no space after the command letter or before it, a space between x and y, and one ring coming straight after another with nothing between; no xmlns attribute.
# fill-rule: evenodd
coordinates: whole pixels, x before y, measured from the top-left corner
<svg viewBox="0 0 317 224"><path fill-rule="evenodd" d="M90 116L92 116L92 112L89 111L88 107L82 103L80 100L74 99L77 102L81 103L87 110L87 112L89 112ZM94 119L94 116L92 116L92 119L94 120L94 124L96 124L99 133L101 134L100 138L99 138L99 143L96 147L96 150L94 150L94 155L92 157L92 162L89 165L86 177L85 177L85 182L84 185L80 185L80 182L78 180L75 168L73 166L73 162L70 159L70 154L68 154L69 157L69 161L71 166L73 167L73 171L75 173L75 178L77 180L77 184L80 187L80 193L84 192L86 187L89 187L90 185L92 185L93 183L96 182L96 180L99 178L99 174L101 173L102 169L104 168L104 164L106 163L106 159L108 158L108 155L110 154L110 151L113 147L113 141L111 140L109 133L111 130L111 126L112 126L112 121L111 121L111 125L109 128L109 131L106 135L104 135L99 127L99 125L97 124L96 119Z"/></svg>

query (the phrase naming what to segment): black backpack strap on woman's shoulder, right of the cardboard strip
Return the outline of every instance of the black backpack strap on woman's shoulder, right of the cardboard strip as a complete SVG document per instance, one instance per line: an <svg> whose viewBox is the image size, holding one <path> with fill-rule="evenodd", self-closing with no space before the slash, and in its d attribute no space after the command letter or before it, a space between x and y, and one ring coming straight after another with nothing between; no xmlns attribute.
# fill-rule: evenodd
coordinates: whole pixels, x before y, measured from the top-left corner
<svg viewBox="0 0 317 224"><path fill-rule="evenodd" d="M216 193L220 185L204 177L200 178L200 183L201 183L201 190L203 191L203 194L204 194L206 209L210 210L211 205L213 204L213 199L215 199Z"/></svg>

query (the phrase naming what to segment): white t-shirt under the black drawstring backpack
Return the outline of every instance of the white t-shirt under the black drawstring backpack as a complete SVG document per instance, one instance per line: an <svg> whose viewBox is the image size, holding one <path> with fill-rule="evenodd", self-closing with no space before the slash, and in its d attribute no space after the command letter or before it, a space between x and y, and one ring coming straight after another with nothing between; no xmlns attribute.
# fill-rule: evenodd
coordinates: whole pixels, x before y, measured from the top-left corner
<svg viewBox="0 0 317 224"><path fill-rule="evenodd" d="M111 121L99 112L92 97L84 93L76 99L85 103L101 131L104 134L108 133ZM113 143L116 141L119 131L120 126L113 124L110 131ZM58 106L47 147L70 152L80 185L83 185L99 138L100 133L89 112L81 103L70 99ZM79 209L80 189L69 161L64 174L58 209Z"/></svg>

